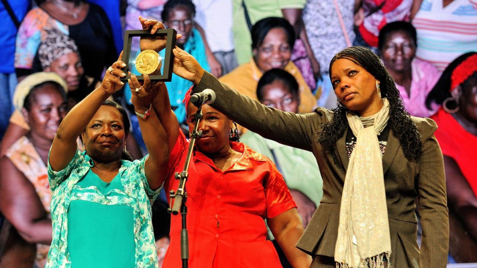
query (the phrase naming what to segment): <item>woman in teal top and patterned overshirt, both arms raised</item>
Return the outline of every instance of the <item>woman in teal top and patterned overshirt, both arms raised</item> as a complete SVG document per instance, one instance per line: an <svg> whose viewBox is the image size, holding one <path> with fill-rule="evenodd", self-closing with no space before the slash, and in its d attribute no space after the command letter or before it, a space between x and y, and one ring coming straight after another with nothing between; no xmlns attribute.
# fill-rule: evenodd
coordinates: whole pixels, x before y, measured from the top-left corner
<svg viewBox="0 0 477 268"><path fill-rule="evenodd" d="M46 267L158 266L151 203L165 178L168 147L158 142L166 134L151 102L161 85L145 76L143 86L131 88L150 152L131 162L124 149L129 120L122 107L107 100L124 84L121 57L101 86L64 118L53 140L48 158L53 240ZM77 150L78 136L83 152Z"/></svg>

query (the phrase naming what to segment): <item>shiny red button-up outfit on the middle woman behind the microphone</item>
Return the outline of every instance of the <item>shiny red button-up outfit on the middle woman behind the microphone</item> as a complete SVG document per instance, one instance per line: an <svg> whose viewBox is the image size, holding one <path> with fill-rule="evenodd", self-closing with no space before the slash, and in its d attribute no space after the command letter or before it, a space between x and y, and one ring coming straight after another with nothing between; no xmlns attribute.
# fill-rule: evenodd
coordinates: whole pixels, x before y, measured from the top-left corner
<svg viewBox="0 0 477 268"><path fill-rule="evenodd" d="M186 183L189 267L281 268L273 244L266 240L266 218L296 204L270 159L242 143L230 143L242 153L222 172L212 159L194 151ZM165 190L177 191L175 172L184 168L189 142L180 133L169 158ZM180 268L181 215L172 215L170 245L162 267Z"/></svg>

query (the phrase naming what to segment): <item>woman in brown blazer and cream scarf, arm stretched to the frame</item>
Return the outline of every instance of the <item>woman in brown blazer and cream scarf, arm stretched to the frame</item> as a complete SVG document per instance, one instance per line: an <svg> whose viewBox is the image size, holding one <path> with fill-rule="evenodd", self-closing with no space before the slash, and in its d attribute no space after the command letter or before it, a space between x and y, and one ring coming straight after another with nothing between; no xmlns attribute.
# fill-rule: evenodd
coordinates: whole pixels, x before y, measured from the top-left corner
<svg viewBox="0 0 477 268"><path fill-rule="evenodd" d="M444 268L448 214L442 153L429 118L410 116L393 78L364 47L335 55L330 78L338 108L293 114L241 96L173 50L174 73L211 88L212 107L288 146L311 151L323 198L297 247L311 267ZM417 236L417 206L422 245Z"/></svg>

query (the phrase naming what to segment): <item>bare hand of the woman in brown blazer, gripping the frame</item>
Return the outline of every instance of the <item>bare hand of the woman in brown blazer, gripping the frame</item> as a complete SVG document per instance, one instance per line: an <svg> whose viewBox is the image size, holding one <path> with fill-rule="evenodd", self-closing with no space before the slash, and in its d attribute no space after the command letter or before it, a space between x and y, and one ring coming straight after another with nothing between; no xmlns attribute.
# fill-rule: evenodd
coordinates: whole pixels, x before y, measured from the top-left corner
<svg viewBox="0 0 477 268"><path fill-rule="evenodd" d="M176 46L172 53L174 54L174 74L187 79L194 84L199 84L205 71L199 62L189 53Z"/></svg>

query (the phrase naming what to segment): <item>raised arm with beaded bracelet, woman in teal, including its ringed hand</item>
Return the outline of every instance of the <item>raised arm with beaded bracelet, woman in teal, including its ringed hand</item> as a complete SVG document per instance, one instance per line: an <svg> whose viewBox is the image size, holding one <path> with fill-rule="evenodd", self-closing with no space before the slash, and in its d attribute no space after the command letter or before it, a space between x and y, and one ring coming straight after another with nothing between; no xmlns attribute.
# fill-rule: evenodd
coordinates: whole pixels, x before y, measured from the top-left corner
<svg viewBox="0 0 477 268"><path fill-rule="evenodd" d="M137 77L131 75L128 80L131 89L131 102L138 115L139 127L149 155L144 162L144 170L149 187L158 189L165 180L169 150L167 146L167 134L162 127L152 102L158 96L159 85L162 82L151 83L148 75L144 75L141 85ZM138 91L136 91L139 89ZM142 115L142 116L141 116Z"/></svg>

